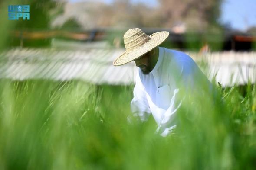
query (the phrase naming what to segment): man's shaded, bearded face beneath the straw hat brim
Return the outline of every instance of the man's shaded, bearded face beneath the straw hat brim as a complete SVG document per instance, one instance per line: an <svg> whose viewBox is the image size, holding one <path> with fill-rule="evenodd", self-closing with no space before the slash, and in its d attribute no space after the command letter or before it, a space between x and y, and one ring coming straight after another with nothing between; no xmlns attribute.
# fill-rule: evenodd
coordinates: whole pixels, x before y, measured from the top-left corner
<svg viewBox="0 0 256 170"><path fill-rule="evenodd" d="M142 55L140 58L134 60L137 67L140 67L143 74L149 74L151 72L151 52Z"/></svg>

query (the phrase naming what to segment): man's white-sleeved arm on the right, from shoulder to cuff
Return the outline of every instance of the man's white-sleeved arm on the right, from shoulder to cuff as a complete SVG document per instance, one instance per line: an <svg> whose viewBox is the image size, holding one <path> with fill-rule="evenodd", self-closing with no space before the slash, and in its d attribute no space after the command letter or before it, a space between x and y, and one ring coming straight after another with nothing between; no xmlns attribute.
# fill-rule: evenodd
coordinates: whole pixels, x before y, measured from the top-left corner
<svg viewBox="0 0 256 170"><path fill-rule="evenodd" d="M160 125L158 127L158 132L162 136L168 135L177 125L177 111L180 108L184 98L190 93L190 90L194 89L194 77L199 76L199 68L194 63L194 61L181 60L177 61L174 66L170 67L170 73L174 76L176 87L170 95L171 101L170 106L164 112ZM175 69L175 70L174 70ZM171 82L169 80L169 84Z"/></svg>

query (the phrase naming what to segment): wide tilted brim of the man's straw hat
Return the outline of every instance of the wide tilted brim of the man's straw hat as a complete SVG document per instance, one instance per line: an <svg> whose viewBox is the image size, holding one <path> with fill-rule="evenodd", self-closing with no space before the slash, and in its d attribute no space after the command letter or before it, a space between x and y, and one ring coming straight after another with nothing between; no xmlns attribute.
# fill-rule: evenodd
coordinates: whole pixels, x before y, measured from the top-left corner
<svg viewBox="0 0 256 170"><path fill-rule="evenodd" d="M135 51L131 52L124 52L122 55L120 55L115 61L113 62L114 66L120 66L126 63L129 63L139 57L141 55L146 54L148 51L151 51L153 48L160 45L166 38L169 36L169 32L167 31L161 31L156 32L149 37L151 38L148 42L146 42L144 45L142 45L140 48L138 48Z"/></svg>

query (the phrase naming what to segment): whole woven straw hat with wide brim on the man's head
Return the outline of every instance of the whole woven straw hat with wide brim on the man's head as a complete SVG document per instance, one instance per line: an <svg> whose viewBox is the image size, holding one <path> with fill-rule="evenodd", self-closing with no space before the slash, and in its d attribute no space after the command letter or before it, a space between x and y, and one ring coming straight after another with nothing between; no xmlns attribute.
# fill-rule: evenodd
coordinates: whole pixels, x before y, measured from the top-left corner
<svg viewBox="0 0 256 170"><path fill-rule="evenodd" d="M131 62L141 55L160 45L169 36L169 32L156 32L150 36L141 29L129 29L125 32L125 53L115 59L114 66L119 66Z"/></svg>

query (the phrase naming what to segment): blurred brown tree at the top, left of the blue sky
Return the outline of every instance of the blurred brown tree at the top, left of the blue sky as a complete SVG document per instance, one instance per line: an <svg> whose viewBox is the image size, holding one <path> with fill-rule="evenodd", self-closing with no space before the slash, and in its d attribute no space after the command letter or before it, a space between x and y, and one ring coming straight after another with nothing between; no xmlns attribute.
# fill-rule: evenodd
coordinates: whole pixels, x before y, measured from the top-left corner
<svg viewBox="0 0 256 170"><path fill-rule="evenodd" d="M218 26L221 0L158 0L161 23L171 27L184 22L188 29L203 31L209 26Z"/></svg>

